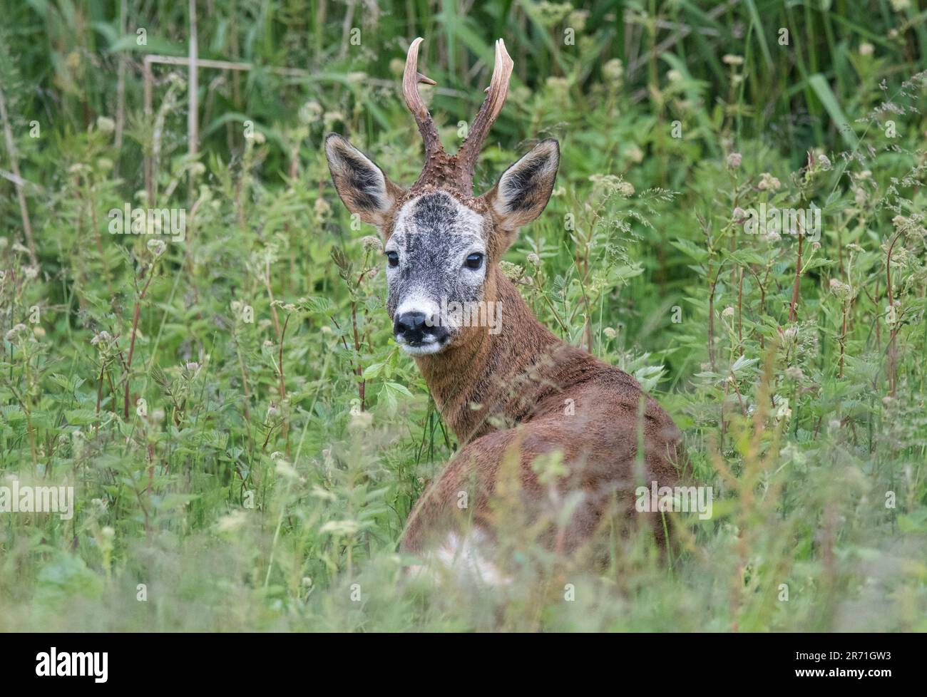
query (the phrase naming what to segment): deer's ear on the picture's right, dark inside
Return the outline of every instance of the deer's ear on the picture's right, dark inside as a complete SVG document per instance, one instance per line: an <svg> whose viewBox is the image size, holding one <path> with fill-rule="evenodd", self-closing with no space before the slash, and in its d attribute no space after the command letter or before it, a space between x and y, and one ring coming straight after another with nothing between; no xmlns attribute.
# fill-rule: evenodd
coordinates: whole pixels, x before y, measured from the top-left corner
<svg viewBox="0 0 927 697"><path fill-rule="evenodd" d="M560 146L548 138L506 170L486 194L497 227L514 233L537 218L551 197L559 165Z"/></svg>

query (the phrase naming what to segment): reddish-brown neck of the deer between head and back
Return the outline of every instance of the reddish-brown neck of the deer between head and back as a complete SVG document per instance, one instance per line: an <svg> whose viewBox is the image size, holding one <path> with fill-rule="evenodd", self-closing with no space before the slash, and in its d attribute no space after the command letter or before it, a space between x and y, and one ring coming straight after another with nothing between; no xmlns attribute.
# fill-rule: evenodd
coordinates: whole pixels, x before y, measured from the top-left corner
<svg viewBox="0 0 927 697"><path fill-rule="evenodd" d="M502 422L520 421L540 385L519 378L550 355L560 340L534 317L514 284L498 267L484 288L484 300L499 304L500 322L465 327L454 343L415 362L445 424L462 444L495 430ZM489 310L488 310L489 313ZM489 313L489 316L493 316ZM513 387L518 399L512 399Z"/></svg>

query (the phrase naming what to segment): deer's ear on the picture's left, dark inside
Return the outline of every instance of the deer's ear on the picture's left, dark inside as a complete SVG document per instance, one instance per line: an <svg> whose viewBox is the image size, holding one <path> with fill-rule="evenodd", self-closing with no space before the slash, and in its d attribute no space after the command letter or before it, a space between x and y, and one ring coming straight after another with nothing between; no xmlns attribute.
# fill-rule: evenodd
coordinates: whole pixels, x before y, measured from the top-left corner
<svg viewBox="0 0 927 697"><path fill-rule="evenodd" d="M402 189L373 160L337 133L325 136L325 157L338 196L351 213L377 227L390 218Z"/></svg>

